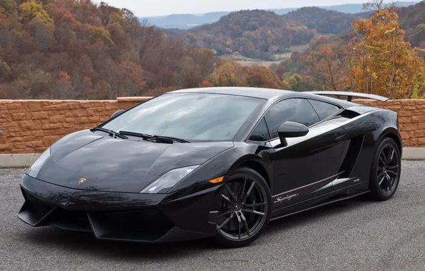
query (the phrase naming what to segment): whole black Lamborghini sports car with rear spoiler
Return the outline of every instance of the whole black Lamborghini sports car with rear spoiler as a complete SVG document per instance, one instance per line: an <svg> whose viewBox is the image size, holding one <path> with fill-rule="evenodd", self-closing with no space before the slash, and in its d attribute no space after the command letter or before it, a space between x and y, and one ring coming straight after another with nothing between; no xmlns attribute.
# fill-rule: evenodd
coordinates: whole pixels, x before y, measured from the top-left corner
<svg viewBox="0 0 425 271"><path fill-rule="evenodd" d="M213 237L237 247L302 210L364 193L388 200L401 172L398 117L353 96L387 100L263 88L165 93L51 145L24 175L18 217L98 239Z"/></svg>

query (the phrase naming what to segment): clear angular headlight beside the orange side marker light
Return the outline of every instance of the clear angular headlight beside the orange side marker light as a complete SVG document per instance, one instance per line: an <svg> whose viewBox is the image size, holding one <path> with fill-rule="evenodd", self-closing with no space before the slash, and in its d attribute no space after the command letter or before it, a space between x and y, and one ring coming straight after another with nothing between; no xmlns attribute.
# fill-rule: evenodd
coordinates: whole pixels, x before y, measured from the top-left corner
<svg viewBox="0 0 425 271"><path fill-rule="evenodd" d="M167 193L176 183L185 178L189 173L191 173L195 168L198 168L199 165L191 165L190 167L185 168L176 168L168 171L160 178L156 179L153 183L148 185L145 189L141 190L140 193L149 193L149 194L164 194Z"/></svg>

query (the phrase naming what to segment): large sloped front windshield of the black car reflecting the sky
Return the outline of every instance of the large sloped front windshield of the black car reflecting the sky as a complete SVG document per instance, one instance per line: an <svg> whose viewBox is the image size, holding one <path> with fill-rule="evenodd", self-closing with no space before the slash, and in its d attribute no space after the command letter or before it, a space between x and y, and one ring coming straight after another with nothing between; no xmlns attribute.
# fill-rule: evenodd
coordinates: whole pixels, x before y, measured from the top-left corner
<svg viewBox="0 0 425 271"><path fill-rule="evenodd" d="M232 140L265 100L210 93L168 93L130 109L103 128L185 140Z"/></svg>

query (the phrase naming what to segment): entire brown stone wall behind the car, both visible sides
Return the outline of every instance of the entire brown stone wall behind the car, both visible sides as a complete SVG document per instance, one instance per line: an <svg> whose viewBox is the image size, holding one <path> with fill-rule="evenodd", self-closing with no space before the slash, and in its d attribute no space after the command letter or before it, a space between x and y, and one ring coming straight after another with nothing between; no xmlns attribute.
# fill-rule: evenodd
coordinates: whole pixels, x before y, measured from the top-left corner
<svg viewBox="0 0 425 271"><path fill-rule="evenodd" d="M118 98L116 101L0 100L0 153L41 153L68 133L93 128L108 120L118 109L130 108L148 98ZM425 100L355 102L397 111L404 145L425 147Z"/></svg>

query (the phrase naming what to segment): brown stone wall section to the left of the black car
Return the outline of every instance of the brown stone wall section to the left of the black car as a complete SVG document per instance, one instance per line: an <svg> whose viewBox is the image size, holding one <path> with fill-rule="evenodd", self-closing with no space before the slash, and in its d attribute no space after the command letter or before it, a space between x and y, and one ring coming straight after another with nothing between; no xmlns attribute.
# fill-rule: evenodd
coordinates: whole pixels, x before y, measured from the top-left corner
<svg viewBox="0 0 425 271"><path fill-rule="evenodd" d="M93 128L148 97L116 101L0 100L0 153L42 153L68 133Z"/></svg>

